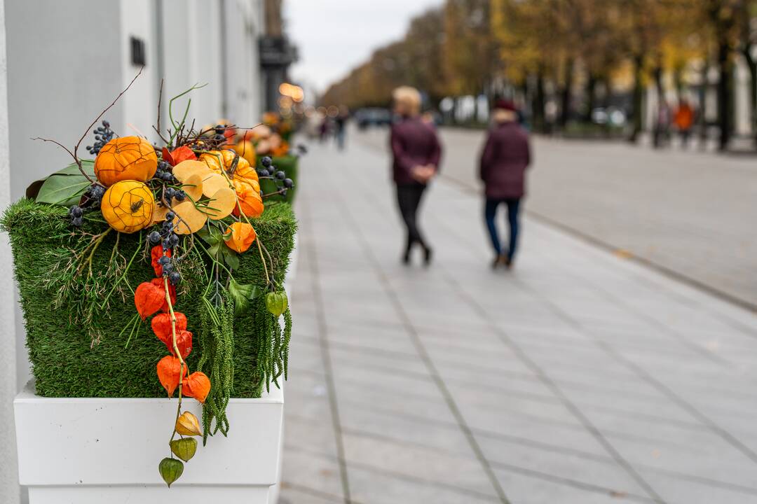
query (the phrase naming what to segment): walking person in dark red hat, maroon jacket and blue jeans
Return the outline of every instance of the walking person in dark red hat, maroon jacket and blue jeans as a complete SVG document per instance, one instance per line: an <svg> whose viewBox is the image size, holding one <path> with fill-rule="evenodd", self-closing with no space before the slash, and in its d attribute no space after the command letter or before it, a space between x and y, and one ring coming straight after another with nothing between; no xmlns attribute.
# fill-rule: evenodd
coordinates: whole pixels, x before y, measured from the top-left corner
<svg viewBox="0 0 757 504"><path fill-rule="evenodd" d="M494 126L489 131L484 152L481 153L481 180L484 181L486 205L484 216L494 247L492 267L512 267L518 246L520 203L525 195L525 169L531 163L528 134L518 123L516 107L509 100L499 100L494 106ZM497 207L507 206L509 243L503 250L497 234Z"/></svg>

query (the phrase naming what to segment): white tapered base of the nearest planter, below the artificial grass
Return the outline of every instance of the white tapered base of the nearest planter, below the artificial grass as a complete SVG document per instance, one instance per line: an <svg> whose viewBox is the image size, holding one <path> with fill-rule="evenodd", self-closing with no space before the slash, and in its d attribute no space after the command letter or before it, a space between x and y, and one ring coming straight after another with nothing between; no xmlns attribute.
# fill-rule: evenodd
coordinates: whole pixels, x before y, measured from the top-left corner
<svg viewBox="0 0 757 504"><path fill-rule="evenodd" d="M14 400L19 480L30 504L274 502L284 407L277 388L260 399L232 399L229 437L200 443L170 489L157 465L170 456L176 399L53 398L33 390L30 382ZM201 416L196 400L183 405Z"/></svg>

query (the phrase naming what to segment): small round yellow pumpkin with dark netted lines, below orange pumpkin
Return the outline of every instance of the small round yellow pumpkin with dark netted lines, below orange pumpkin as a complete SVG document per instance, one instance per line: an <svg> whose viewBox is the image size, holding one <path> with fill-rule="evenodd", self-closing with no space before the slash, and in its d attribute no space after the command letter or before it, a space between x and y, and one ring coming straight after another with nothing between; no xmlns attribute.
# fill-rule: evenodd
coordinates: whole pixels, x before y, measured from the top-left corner
<svg viewBox="0 0 757 504"><path fill-rule="evenodd" d="M150 225L155 197L143 182L120 181L107 188L100 209L114 230L135 233Z"/></svg>

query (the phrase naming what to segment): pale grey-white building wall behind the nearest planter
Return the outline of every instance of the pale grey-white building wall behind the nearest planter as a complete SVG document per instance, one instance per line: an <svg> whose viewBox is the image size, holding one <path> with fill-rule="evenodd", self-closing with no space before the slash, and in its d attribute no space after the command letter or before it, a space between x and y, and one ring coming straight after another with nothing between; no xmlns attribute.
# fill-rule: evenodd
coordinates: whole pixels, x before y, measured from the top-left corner
<svg viewBox="0 0 757 504"><path fill-rule="evenodd" d="M0 8L3 5L0 208L23 196L32 181L71 162L64 150L31 138L76 144L139 71L131 63L131 36L145 42L147 65L105 116L119 135L140 132L157 140L152 126L161 77L165 78L164 128L169 125L169 98L195 83L207 83L190 96L189 116L197 119L197 127L223 117L241 125L255 124L260 118L257 37L263 32L263 0L0 0ZM185 104L177 102L174 113L183 113ZM89 156L83 147L92 141L90 133L81 156ZM11 276L10 268L7 239L0 237L3 278ZM23 317L9 289L0 289L0 323L16 328L15 341L0 343L0 502L15 504L11 398L30 374Z"/></svg>

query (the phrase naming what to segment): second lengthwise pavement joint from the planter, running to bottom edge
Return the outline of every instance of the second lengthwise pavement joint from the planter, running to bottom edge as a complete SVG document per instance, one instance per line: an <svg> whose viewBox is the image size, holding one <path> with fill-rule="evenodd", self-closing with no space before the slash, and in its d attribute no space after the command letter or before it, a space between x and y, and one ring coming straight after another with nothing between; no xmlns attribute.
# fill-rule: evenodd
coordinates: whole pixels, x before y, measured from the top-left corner
<svg viewBox="0 0 757 504"><path fill-rule="evenodd" d="M351 229L353 230L354 234L357 236L358 240L360 240L360 244L363 247L363 254L366 255L367 258L369 258L372 264L372 268L375 271L375 273L378 275L378 278L380 282L382 283L382 286L384 287L385 292L388 295L388 298L390 298L392 305L394 305L394 309L397 315L400 317L400 320L403 321L403 325L405 326L405 330L407 331L407 334L410 336L411 341L416 346L420 359L428 367L428 370L431 373L431 376L434 377L434 381L436 382L439 390L444 396L444 399L447 401L447 406L452 411L453 416L456 417L456 420L459 424L460 429L463 431L463 434L466 435L466 438L468 439L468 442L472 450L474 451L476 457L478 458L478 461L481 463L482 467L484 468L484 472L489 478L489 481L494 487L494 490L497 492L497 495L499 496L500 501L503 502L503 504L510 504L510 500L507 498L502 486L500 485L500 481L497 479L497 476L494 475L494 472L492 471L492 468L489 465L488 460L484 456L483 450L481 450L481 447L478 446L478 442L475 440L474 435L472 434L469 426L467 425L463 417L463 413L460 412L454 398L450 394L450 391L447 389L447 385L444 384L444 380L441 379L441 376L439 375L438 370L436 369L434 363L431 361L431 357L428 356L428 353L426 352L423 343L420 341L418 333L413 327L413 323L410 320L410 317L408 317L407 313L404 311L402 304L399 302L399 299L397 298L397 293L394 292L394 288L391 286L391 283L389 282L388 277L385 274L385 271L383 271L380 262L378 262L378 260L373 255L372 249L369 246L369 243L366 243L366 239L363 236L363 233L360 231L360 227L357 225L358 223L354 220L353 215L349 212L349 209L347 208L347 204L344 202L344 199L341 196L341 193L339 193L338 190L335 191L335 193L338 195L337 200L341 204L342 209L344 210L342 215L346 216L350 220L352 224Z"/></svg>

